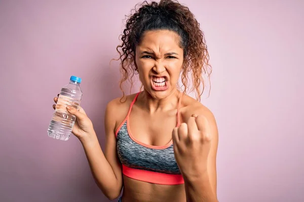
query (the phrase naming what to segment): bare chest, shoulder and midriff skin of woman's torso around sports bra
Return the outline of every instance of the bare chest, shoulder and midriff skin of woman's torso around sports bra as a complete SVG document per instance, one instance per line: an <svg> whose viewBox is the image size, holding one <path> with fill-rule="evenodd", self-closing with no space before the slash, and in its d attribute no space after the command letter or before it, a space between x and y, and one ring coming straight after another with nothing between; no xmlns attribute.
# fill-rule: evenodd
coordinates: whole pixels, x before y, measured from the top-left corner
<svg viewBox="0 0 304 202"><path fill-rule="evenodd" d="M127 101L123 104L123 112L117 120L115 131L119 129L120 124L125 120L126 114L136 94L129 95ZM139 98L137 98L139 99ZM177 107L178 104L176 104ZM200 105L195 99L183 95L180 108L180 122L185 122L191 116L193 106ZM172 140L172 130L177 125L177 108L172 110L155 112L150 114L141 107L140 101L135 102L130 113L129 130L133 137L144 144L154 146L168 145ZM166 120L166 121L164 121ZM149 182L143 182L123 176L124 192L123 202L128 201L176 201L184 202L185 190L184 184L162 185Z"/></svg>

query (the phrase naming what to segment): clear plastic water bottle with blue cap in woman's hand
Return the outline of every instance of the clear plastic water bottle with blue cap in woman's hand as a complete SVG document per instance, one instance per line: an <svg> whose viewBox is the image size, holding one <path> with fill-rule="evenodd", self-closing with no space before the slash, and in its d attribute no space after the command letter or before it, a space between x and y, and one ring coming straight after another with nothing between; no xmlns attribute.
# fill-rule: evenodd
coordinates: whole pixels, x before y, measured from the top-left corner
<svg viewBox="0 0 304 202"><path fill-rule="evenodd" d="M68 113L66 107L70 106L79 110L83 95L80 83L81 78L71 76L69 83L61 88L56 109L48 129L50 137L61 140L69 139L76 117Z"/></svg>

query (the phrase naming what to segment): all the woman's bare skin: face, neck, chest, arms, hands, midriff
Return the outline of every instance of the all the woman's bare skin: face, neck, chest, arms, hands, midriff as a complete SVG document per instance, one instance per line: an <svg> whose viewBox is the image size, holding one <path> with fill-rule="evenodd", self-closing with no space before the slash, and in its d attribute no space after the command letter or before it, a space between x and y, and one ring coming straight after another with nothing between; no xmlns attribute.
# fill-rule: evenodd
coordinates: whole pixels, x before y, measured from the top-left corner
<svg viewBox="0 0 304 202"><path fill-rule="evenodd" d="M167 30L146 32L136 47L135 63L144 90L138 96L130 114L132 135L140 142L157 146L166 145L172 139L175 159L185 184L153 184L122 174L115 131L128 113L135 97L132 94L127 96L125 103L120 103L120 98L116 98L106 107L104 151L99 146L93 124L84 110L67 109L77 117L72 132L84 146L97 185L109 199L117 198L124 186L124 202L217 201L218 131L213 114L197 100L183 95L180 108L182 124L179 128L175 127L179 97L176 84L183 64L179 36ZM154 90L151 83L153 75L166 76L168 89ZM54 100L57 102L57 97Z"/></svg>

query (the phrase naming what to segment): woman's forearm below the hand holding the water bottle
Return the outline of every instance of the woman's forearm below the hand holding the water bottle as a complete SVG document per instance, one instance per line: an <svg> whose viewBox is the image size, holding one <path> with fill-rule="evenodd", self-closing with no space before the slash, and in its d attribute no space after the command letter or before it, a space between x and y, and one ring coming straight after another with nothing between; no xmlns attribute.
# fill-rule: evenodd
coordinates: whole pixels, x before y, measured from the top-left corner
<svg viewBox="0 0 304 202"><path fill-rule="evenodd" d="M110 199L116 198L121 192L122 185L119 184L112 167L106 160L96 135L92 136L90 141L81 141L91 172L102 192Z"/></svg>

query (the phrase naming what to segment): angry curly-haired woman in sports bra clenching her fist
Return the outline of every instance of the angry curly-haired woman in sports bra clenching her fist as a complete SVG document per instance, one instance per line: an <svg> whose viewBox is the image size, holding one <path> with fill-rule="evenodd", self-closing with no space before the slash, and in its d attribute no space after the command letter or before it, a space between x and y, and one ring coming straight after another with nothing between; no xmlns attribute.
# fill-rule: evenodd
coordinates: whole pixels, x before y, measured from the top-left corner
<svg viewBox="0 0 304 202"><path fill-rule="evenodd" d="M199 23L177 2L145 2L128 18L122 41L121 87L138 74L143 91L108 103L104 153L85 111L67 108L96 183L111 200L124 187L123 202L217 201L217 126L198 101L210 68ZM185 94L189 71L198 100Z"/></svg>

